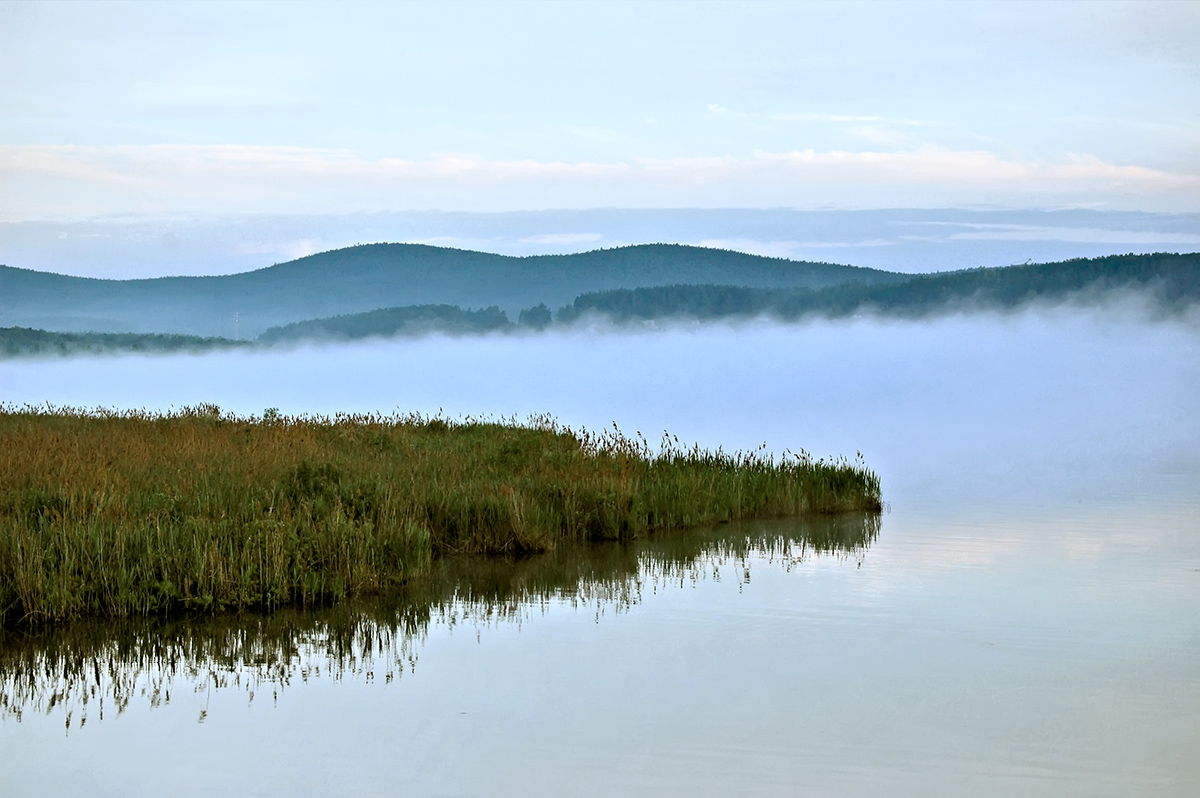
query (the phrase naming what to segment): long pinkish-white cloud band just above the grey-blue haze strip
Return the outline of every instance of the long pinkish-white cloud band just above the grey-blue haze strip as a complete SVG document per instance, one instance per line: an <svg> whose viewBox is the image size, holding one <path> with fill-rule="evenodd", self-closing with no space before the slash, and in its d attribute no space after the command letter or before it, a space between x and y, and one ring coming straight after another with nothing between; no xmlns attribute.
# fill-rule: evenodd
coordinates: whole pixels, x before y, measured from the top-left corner
<svg viewBox="0 0 1200 798"><path fill-rule="evenodd" d="M794 150L611 162L365 158L294 146L0 146L0 216L1104 203L1200 210L1200 176L1078 155Z"/></svg>

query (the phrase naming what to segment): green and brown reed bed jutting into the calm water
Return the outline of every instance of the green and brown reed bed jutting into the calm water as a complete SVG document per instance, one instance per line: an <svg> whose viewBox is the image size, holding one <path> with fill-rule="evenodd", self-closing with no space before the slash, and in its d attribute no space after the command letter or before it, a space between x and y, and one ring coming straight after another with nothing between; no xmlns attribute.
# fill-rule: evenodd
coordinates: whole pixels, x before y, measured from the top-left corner
<svg viewBox="0 0 1200 798"><path fill-rule="evenodd" d="M0 626L379 592L450 553L875 511L859 458L653 448L550 418L0 408Z"/></svg>

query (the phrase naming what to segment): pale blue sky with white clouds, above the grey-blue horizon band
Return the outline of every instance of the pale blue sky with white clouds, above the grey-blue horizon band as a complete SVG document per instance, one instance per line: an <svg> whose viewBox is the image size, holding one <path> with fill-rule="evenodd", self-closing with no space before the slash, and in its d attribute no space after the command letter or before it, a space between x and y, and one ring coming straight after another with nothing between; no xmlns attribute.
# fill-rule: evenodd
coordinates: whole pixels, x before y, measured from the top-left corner
<svg viewBox="0 0 1200 798"><path fill-rule="evenodd" d="M0 76L10 223L1200 212L1194 2L4 2Z"/></svg>

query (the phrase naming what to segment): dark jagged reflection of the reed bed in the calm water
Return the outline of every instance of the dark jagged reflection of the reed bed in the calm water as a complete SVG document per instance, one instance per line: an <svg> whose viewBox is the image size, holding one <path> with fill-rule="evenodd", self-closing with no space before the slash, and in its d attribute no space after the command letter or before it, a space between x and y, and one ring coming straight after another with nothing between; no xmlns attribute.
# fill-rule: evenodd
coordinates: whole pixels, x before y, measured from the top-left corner
<svg viewBox="0 0 1200 798"><path fill-rule="evenodd" d="M750 578L751 558L792 570L814 557L862 565L878 515L725 524L630 544L560 547L518 560L445 559L395 594L269 616L77 623L0 637L0 716L61 713L66 730L172 694L241 690L278 702L296 682L391 683L414 672L431 626L523 623L552 602L599 619L646 590ZM726 568L732 566L732 568ZM203 702L198 720L208 716Z"/></svg>

